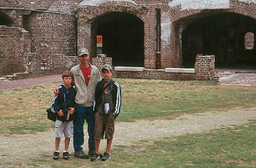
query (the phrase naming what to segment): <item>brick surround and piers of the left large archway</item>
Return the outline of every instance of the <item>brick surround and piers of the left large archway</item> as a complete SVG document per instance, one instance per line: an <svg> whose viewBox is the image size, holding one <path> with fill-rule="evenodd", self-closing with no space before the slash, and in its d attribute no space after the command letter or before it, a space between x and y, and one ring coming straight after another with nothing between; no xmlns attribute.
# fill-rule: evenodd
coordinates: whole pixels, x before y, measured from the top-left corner
<svg viewBox="0 0 256 168"><path fill-rule="evenodd" d="M91 23L102 14L122 12L137 16L144 23L144 67L156 67L156 10L161 1L84 1L79 6L78 48L91 49ZM92 55L93 53L90 53ZM95 56L95 55L92 55Z"/></svg>

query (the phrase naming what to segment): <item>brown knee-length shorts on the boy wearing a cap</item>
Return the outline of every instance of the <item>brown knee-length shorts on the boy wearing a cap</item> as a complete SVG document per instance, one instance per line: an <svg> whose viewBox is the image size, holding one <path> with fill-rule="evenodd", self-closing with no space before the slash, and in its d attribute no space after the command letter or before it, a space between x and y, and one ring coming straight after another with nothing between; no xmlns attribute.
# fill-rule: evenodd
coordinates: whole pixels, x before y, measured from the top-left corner
<svg viewBox="0 0 256 168"><path fill-rule="evenodd" d="M114 115L112 113L95 113L95 130L94 138L103 139L105 132L105 139L113 138L114 132Z"/></svg>

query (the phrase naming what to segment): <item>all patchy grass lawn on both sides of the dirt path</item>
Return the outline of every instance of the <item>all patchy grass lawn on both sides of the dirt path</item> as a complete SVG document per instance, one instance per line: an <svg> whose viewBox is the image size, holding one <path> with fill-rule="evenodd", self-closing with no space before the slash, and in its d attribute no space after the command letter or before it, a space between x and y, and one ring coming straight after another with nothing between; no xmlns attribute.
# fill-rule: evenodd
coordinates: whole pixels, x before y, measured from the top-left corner
<svg viewBox="0 0 256 168"><path fill-rule="evenodd" d="M116 80L122 88L122 107L117 122L169 119L183 113L255 106L256 102L255 87L220 86L202 81ZM34 134L54 128L45 110L58 84L0 91L0 134ZM73 154L69 160L56 161L51 154L38 154L18 164L29 167L256 167L255 132L256 120L251 120L246 125L230 125L205 133L170 136L154 142L143 140L133 146L113 146L113 159L109 162L94 163L74 158Z"/></svg>

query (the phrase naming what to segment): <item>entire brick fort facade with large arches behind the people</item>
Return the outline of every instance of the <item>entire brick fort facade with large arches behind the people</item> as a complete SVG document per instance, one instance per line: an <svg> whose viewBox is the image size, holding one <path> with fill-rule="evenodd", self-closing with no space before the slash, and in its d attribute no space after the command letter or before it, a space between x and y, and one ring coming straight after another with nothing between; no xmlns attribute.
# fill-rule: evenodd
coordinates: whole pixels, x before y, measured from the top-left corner
<svg viewBox="0 0 256 168"><path fill-rule="evenodd" d="M102 14L109 12L124 12L137 16L144 22L144 67L146 69L154 69L156 67L156 9L160 9L160 65L162 69L166 67L181 67L182 54L180 53L181 44L180 36L183 26L191 17L201 17L202 14L211 14L215 9L184 9L183 4L170 6L170 3L176 1L179 3L191 3L189 1L153 1L153 0L134 0L135 3L128 1L107 1L96 6L79 6L83 0L9 0L0 1L1 7L20 8L20 9L42 9L53 12L62 12L66 14L50 14L20 10L0 9L1 13L7 14L14 21L14 27L1 28L0 54L1 54L1 71L0 74L13 72L31 72L34 75L46 74L46 70L42 70L42 60L46 59L46 69L52 73L58 73L65 68L73 67L78 64L76 59L76 49L86 47L90 52L91 49L91 22ZM195 1L193 1L195 3ZM196 1L200 2L200 1ZM209 1L214 3L215 1ZM249 2L249 1L247 1ZM230 0L226 4L229 8L216 9L216 11L233 12L243 14L256 19L256 4L247 3L239 0ZM74 15L78 12L78 32L76 32L76 24ZM185 24L181 24L185 23ZM20 32L25 28L27 32ZM3 30L3 31L2 31ZM9 38L7 39L6 37ZM11 40L9 40L11 39ZM78 46L76 45L78 43ZM6 51L11 48L12 51ZM13 47L14 46L14 47ZM13 55L9 59L10 55ZM96 55L91 55L92 58ZM13 58L22 58L15 61L22 65L18 68L9 68L10 63L14 64ZM9 60L9 61L8 61ZM93 61L93 60L92 60ZM4 62L4 63L3 63ZM5 66L5 67L3 67ZM12 67L12 66L11 66ZM4 69L4 72L3 72ZM131 74L133 74L132 72ZM212 72L211 72L212 73ZM127 76L129 76L127 73ZM150 75L149 75L150 74ZM187 77L188 74L164 74L161 71L145 70L142 78L195 78L193 75ZM198 73L199 74L199 73ZM140 76L141 74L134 74ZM208 75L208 74L206 74ZM210 74L211 76L212 74ZM171 77L172 76L172 77ZM211 79L207 76L207 79ZM214 76L214 75L213 75ZM199 77L197 77L199 78Z"/></svg>

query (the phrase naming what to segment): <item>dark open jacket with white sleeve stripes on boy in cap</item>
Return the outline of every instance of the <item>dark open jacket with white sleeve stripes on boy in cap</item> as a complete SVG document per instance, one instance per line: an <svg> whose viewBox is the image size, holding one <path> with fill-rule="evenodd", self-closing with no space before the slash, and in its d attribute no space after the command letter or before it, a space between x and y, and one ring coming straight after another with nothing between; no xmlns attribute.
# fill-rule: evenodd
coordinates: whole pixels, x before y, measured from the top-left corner
<svg viewBox="0 0 256 168"><path fill-rule="evenodd" d="M96 85L95 112L98 112L100 102L102 101L103 85L104 85L104 78L102 79L102 81L99 81ZM120 112L120 107L121 107L121 88L118 82L115 82L113 80L111 81L110 92L112 92L112 101L113 101L113 111L110 113L113 113L114 115L118 116Z"/></svg>

